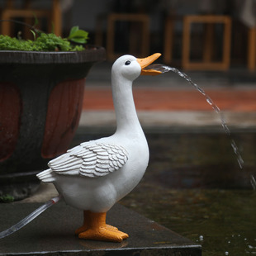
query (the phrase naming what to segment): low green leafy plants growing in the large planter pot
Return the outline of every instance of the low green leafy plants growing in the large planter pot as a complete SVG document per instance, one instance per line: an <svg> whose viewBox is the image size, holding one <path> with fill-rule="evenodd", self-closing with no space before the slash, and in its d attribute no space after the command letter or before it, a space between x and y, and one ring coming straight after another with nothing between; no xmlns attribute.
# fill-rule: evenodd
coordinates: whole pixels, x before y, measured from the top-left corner
<svg viewBox="0 0 256 256"><path fill-rule="evenodd" d="M61 38L53 33L46 34L31 30L34 40L22 40L10 36L0 35L0 50L27 50L27 51L76 51L84 50L88 32L74 26L68 38ZM72 42L76 43L75 45ZM78 45L79 44L79 45Z"/></svg>

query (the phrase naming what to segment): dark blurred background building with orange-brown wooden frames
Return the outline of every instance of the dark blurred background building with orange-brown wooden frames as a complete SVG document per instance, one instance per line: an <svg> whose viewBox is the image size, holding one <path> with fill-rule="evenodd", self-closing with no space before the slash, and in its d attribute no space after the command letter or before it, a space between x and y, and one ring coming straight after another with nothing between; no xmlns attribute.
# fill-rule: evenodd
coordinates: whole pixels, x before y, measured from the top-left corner
<svg viewBox="0 0 256 256"><path fill-rule="evenodd" d="M1 0L1 19L35 24L67 36L72 26L88 31L89 44L107 59L161 52L166 64L192 70L255 69L255 0ZM21 26L1 22L2 34ZM28 35L29 32L24 32Z"/></svg>

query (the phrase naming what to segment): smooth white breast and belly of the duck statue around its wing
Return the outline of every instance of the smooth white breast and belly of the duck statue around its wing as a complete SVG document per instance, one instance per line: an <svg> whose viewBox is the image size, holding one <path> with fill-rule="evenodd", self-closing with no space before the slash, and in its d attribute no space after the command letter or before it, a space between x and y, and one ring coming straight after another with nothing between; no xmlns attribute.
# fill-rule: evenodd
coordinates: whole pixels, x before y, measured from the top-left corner
<svg viewBox="0 0 256 256"><path fill-rule="evenodd" d="M106 139L95 140L93 145L111 145L116 149L117 135ZM133 149L135 146L135 150ZM79 145L78 147L83 147ZM83 177L83 175L58 175L54 184L64 200L70 206L93 212L106 212L116 201L125 197L139 182L145 173L149 161L149 149L145 138L123 140L128 159L118 170L102 177ZM72 151L71 151L72 152ZM138 155L140 159L138 160Z"/></svg>

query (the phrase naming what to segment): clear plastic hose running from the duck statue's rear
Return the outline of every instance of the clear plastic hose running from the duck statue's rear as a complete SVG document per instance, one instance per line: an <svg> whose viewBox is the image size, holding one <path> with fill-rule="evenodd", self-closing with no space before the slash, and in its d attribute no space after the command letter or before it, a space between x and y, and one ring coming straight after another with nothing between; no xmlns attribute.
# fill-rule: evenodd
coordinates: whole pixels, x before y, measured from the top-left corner
<svg viewBox="0 0 256 256"><path fill-rule="evenodd" d="M44 205L40 206L39 208L36 209L36 211L33 211L30 215L26 216L25 219L21 220L16 225L12 225L7 230L0 232L0 239L6 237L7 235L11 235L17 230L20 230L24 225L27 225L28 223L31 222L31 220L36 219L37 216L39 216L43 211L48 209L50 206L54 205L60 199L61 199L61 195L59 195L58 197L52 198L49 201L46 201Z"/></svg>

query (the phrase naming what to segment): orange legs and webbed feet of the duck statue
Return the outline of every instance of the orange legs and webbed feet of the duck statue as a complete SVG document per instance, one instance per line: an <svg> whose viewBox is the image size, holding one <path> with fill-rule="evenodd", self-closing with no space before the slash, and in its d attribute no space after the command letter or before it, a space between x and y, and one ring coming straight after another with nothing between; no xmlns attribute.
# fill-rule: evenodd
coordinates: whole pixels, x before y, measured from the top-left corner
<svg viewBox="0 0 256 256"><path fill-rule="evenodd" d="M116 227L106 225L106 212L93 213L85 211L84 217L83 226L76 230L76 234L81 239L121 242L129 237L129 235L121 232Z"/></svg>

